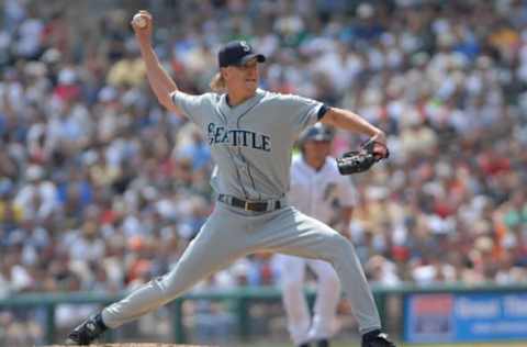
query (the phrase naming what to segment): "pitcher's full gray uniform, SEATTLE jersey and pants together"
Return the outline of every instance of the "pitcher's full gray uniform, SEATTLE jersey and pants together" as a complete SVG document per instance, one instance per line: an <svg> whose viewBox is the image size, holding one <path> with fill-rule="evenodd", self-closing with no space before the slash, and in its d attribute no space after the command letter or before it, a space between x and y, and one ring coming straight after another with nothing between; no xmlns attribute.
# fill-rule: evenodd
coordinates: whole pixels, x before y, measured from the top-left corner
<svg viewBox="0 0 527 347"><path fill-rule="evenodd" d="M315 123L326 108L310 99L260 89L234 108L226 96L214 93L176 91L171 97L211 145L216 164L211 179L214 190L246 201L266 201L272 209L246 211L232 198L229 203L217 203L173 269L105 307L104 324L114 328L133 321L234 260L268 250L330 262L351 301L359 331L380 328L379 313L351 243L282 199L290 184L296 135ZM283 203L269 203L278 199Z"/></svg>

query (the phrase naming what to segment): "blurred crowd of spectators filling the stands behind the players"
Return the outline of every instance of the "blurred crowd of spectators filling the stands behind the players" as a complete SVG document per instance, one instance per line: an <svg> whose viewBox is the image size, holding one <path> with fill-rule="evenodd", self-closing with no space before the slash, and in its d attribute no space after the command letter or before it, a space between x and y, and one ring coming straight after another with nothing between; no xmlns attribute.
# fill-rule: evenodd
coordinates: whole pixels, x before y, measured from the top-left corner
<svg viewBox="0 0 527 347"><path fill-rule="evenodd" d="M268 57L262 88L386 131L390 160L352 178L372 283L527 281L525 1L126 5L0 4L0 298L134 288L170 269L213 208L208 145L149 90L130 27L139 5L183 91L209 91L217 47L243 38ZM361 141L338 132L334 155ZM256 255L197 290L279 278Z"/></svg>

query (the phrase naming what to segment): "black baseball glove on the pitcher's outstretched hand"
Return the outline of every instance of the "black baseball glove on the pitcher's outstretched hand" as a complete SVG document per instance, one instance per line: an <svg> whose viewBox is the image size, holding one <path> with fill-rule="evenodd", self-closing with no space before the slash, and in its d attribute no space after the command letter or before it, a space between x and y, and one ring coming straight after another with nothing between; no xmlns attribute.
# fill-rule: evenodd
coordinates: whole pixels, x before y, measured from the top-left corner
<svg viewBox="0 0 527 347"><path fill-rule="evenodd" d="M345 153L337 158L337 167L340 175L352 175L368 170L373 164L390 156L384 144L369 139L360 146L359 150Z"/></svg>

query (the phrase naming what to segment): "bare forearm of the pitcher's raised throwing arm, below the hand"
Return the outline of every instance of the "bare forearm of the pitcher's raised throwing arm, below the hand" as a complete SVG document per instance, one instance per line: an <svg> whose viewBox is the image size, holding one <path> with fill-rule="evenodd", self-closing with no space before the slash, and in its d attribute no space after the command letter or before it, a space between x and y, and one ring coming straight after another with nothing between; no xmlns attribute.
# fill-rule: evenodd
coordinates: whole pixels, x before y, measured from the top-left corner
<svg viewBox="0 0 527 347"><path fill-rule="evenodd" d="M173 108L173 104L170 101L170 93L178 89L176 82L170 78L167 71L165 71L150 45L141 44L139 48L141 55L146 65L148 82L150 83L157 100L167 109Z"/></svg>

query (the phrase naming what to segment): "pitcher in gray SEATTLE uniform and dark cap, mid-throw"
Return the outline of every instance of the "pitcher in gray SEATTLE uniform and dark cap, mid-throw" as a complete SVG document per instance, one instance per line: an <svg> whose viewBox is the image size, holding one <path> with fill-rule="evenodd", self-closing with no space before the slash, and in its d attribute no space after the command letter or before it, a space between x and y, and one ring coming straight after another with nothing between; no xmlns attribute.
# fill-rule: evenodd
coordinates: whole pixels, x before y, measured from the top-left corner
<svg viewBox="0 0 527 347"><path fill-rule="evenodd" d="M231 42L218 53L224 92L191 96L178 89L152 47L152 15L133 23L150 87L168 110L187 116L206 136L215 169L211 178L217 203L198 236L170 272L153 279L104 307L69 334L89 345L116 328L182 295L192 286L238 258L267 250L324 259L338 273L362 335L362 347L392 347L351 243L326 224L291 206L291 153L296 136L321 121L370 136L384 133L359 115L322 102L258 88L258 63L266 57L246 42ZM386 148L374 155L388 156Z"/></svg>

